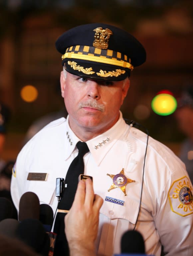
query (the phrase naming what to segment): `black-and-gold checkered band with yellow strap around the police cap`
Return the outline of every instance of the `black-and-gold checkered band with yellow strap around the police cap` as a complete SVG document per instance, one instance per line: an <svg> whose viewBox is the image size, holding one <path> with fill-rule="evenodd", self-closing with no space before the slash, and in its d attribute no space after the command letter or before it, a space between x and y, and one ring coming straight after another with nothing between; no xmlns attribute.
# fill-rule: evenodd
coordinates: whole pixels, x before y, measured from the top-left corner
<svg viewBox="0 0 193 256"><path fill-rule="evenodd" d="M64 59L88 60L133 69L133 66L129 63L130 59L126 55L92 46L71 46L67 48L66 53L62 55L62 60Z"/></svg>

